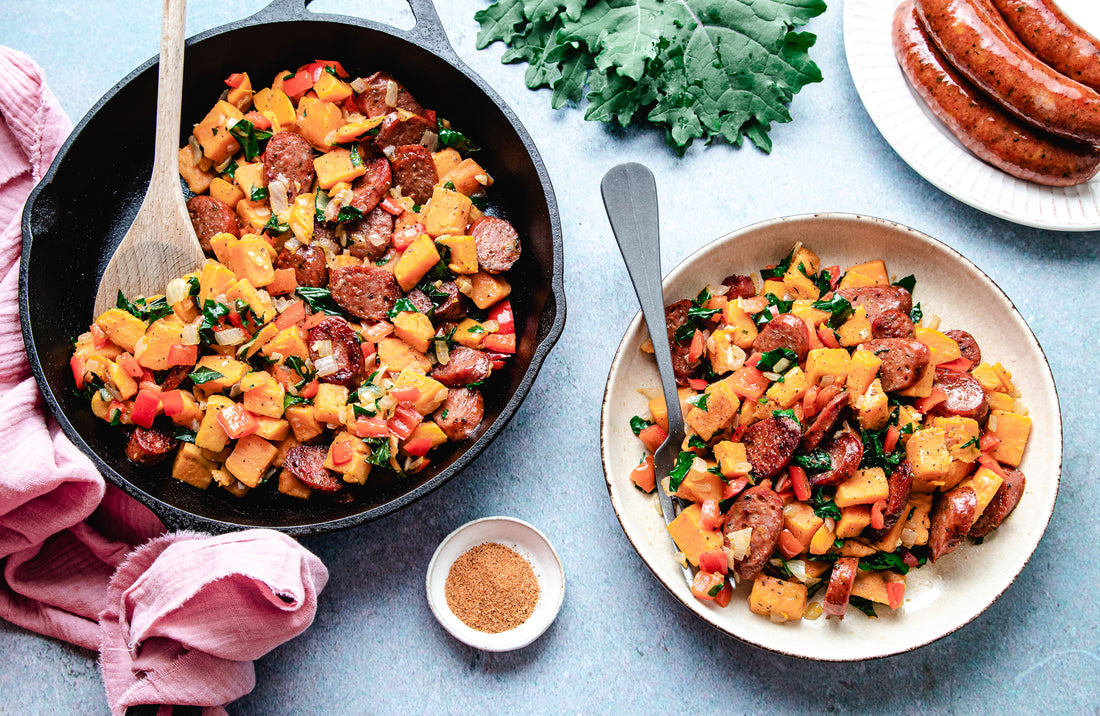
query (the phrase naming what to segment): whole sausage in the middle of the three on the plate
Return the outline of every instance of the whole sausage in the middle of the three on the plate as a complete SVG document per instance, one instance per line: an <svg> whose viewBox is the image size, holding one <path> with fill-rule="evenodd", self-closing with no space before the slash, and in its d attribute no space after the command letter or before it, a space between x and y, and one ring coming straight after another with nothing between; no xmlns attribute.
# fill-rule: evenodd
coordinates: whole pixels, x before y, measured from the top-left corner
<svg viewBox="0 0 1100 716"><path fill-rule="evenodd" d="M947 59L1020 119L1053 134L1100 143L1100 95L1044 64L977 0L916 0Z"/></svg>

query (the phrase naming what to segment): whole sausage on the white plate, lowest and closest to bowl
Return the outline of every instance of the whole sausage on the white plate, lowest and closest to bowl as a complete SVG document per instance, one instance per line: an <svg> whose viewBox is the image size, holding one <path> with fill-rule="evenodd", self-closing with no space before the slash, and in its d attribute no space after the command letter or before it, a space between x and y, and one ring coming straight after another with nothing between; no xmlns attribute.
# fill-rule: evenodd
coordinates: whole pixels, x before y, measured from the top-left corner
<svg viewBox="0 0 1100 716"><path fill-rule="evenodd" d="M989 99L939 53L913 11L894 14L894 54L910 84L944 126L978 158L1014 177L1048 186L1087 181L1100 152L1047 134Z"/></svg>

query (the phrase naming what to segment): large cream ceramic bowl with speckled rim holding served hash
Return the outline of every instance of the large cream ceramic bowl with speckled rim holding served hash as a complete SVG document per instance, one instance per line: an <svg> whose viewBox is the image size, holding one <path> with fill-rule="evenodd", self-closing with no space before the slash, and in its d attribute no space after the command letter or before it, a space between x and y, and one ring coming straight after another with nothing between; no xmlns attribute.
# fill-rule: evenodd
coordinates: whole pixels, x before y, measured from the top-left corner
<svg viewBox="0 0 1100 716"><path fill-rule="evenodd" d="M904 604L879 607L871 619L855 609L844 620L773 624L748 609L748 584L729 606L691 595L656 497L630 482L642 447L630 431L631 416L645 415L638 388L660 392L652 356L638 350L647 338L641 315L623 338L604 393L601 447L612 506L623 530L657 579L689 609L722 631L772 651L826 661L886 657L934 641L977 617L1027 563L1054 509L1062 471L1062 421L1054 378L1031 329L1009 298L974 264L943 243L897 223L854 214L788 217L735 231L698 250L664 279L667 302L694 297L729 274L755 274L803 241L822 264L849 266L883 258L891 276L916 276L914 301L942 326L963 328L978 340L982 360L1003 364L1022 392L1033 420L1020 465L1027 486L1020 505L983 544L969 541L936 564L912 570ZM820 597L818 597L820 598Z"/></svg>

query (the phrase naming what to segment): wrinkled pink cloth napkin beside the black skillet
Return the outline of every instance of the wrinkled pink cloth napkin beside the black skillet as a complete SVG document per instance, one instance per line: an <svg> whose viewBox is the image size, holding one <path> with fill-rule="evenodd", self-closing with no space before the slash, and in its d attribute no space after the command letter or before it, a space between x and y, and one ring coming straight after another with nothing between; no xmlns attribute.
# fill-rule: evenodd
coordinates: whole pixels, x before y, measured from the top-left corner
<svg viewBox="0 0 1100 716"><path fill-rule="evenodd" d="M223 713L252 661L312 623L328 570L272 530L165 535L46 417L20 332L20 221L70 129L38 67L0 46L0 618L98 649L114 714Z"/></svg>

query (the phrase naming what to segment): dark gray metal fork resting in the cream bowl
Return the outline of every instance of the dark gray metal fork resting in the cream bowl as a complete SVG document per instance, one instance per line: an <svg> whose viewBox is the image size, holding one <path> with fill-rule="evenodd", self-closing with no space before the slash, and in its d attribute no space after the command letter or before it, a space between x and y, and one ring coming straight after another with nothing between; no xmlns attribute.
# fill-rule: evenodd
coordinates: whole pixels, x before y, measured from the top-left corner
<svg viewBox="0 0 1100 716"><path fill-rule="evenodd" d="M664 405L669 410L669 437L653 453L657 475L657 498L661 503L664 524L679 514L672 496L664 491L664 477L675 465L680 445L684 440L684 419L676 394L676 378L672 371L672 353L664 328L664 294L661 289L661 236L657 216L657 183L653 174L640 164L619 164L604 175L600 183L604 209L612 224L612 233L623 253L630 283L641 304L649 340L653 344L657 372L661 375ZM672 539L669 537L669 539ZM692 571L684 566L690 585Z"/></svg>

